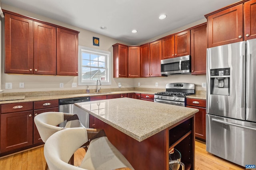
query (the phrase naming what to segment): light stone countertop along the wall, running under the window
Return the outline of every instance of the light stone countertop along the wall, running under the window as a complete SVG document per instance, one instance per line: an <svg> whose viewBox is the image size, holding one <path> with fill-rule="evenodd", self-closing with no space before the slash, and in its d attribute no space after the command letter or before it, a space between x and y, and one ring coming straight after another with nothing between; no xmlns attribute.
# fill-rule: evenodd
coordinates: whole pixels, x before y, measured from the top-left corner
<svg viewBox="0 0 256 170"><path fill-rule="evenodd" d="M43 100L57 100L57 99L69 99L69 98L82 98L82 97L90 97L90 96L104 96L104 95L124 94L124 93L154 94L157 92L143 91L143 90L127 90L127 91L117 91L117 92L102 92L98 94L78 93L78 94L59 94L59 95L31 96L31 97L27 97L25 95L24 96L0 96L0 100L1 100L0 104L35 102L35 101L43 101Z"/></svg>

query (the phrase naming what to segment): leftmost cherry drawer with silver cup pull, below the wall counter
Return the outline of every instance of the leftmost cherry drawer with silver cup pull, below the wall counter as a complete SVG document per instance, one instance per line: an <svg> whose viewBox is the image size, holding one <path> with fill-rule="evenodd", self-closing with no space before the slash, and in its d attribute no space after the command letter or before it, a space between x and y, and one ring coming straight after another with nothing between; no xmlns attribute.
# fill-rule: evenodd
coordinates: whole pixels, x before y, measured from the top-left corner
<svg viewBox="0 0 256 170"><path fill-rule="evenodd" d="M33 102L10 103L1 105L1 113L33 110Z"/></svg>

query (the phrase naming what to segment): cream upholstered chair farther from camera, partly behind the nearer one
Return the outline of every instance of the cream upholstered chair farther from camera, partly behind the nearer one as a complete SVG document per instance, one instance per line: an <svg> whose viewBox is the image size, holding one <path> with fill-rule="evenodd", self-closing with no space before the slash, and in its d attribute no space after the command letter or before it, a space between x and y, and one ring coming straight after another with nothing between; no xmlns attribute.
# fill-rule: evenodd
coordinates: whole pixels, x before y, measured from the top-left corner
<svg viewBox="0 0 256 170"><path fill-rule="evenodd" d="M36 124L36 128L40 134L42 141L45 143L48 138L65 128L73 128L73 127L84 127L78 116L70 113L62 113L62 112L44 112L35 116L34 122ZM65 125L65 127L59 127L61 124ZM88 145L88 143L87 143ZM85 145L86 146L86 145ZM85 147L85 150L87 148ZM70 164L74 163L74 156L70 158ZM48 165L46 163L45 170L48 169Z"/></svg>

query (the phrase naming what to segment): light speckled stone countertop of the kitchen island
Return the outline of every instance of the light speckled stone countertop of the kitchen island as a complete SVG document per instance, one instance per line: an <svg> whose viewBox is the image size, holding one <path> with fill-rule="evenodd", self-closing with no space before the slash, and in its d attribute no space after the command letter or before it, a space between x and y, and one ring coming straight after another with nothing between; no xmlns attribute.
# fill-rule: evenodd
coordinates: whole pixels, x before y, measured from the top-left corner
<svg viewBox="0 0 256 170"><path fill-rule="evenodd" d="M75 106L139 142L198 112L190 107L132 98L82 102Z"/></svg>

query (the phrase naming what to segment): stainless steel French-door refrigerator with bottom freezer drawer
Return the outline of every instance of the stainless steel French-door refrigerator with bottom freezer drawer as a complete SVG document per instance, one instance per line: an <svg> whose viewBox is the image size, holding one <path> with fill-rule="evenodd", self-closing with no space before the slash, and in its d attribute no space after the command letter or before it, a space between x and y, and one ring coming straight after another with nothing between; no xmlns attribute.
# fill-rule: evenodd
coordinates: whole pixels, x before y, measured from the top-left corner
<svg viewBox="0 0 256 170"><path fill-rule="evenodd" d="M256 164L256 39L207 49L206 150Z"/></svg>

